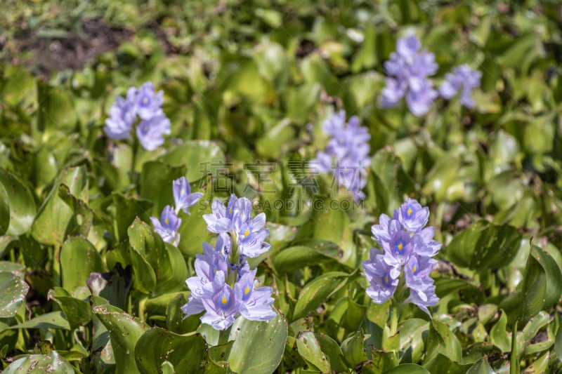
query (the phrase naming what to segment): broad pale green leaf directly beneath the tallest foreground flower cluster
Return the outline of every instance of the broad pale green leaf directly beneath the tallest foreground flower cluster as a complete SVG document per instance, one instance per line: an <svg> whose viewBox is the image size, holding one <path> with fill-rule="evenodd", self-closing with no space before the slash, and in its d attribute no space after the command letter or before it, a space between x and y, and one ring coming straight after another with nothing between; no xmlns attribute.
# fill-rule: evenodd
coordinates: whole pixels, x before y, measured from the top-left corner
<svg viewBox="0 0 562 374"><path fill-rule="evenodd" d="M281 314L266 322L240 317L229 338L235 338L228 356L230 368L235 373L273 373L285 352L287 334L287 321Z"/></svg>

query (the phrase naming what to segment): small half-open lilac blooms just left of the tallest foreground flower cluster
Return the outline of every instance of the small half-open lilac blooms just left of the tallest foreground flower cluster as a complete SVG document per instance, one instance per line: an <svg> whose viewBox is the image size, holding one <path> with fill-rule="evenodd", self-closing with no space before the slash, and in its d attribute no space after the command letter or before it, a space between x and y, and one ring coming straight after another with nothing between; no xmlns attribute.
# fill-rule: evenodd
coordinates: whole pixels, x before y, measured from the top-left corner
<svg viewBox="0 0 562 374"><path fill-rule="evenodd" d="M202 198L203 194L201 192L191 193L191 186L185 177L174 180L172 182L172 189L174 191L176 208L166 205L159 220L156 217L150 217L150 220L155 227L155 232L162 236L162 240L172 243L177 247L180 242L178 229L181 225L181 218L178 218L178 213L179 211L184 211L190 214L188 208L195 205Z"/></svg>

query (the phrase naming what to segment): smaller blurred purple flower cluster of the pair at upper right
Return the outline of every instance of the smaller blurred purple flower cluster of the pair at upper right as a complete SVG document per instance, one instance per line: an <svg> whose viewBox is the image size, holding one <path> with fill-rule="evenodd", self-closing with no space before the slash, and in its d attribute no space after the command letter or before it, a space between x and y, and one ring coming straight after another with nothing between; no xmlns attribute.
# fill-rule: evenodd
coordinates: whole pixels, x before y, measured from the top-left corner
<svg viewBox="0 0 562 374"><path fill-rule="evenodd" d="M472 98L472 90L480 86L482 73L473 70L469 65L454 67L452 72L445 74L445 81L439 87L439 93L443 98L450 99L461 91L461 104L472 108L476 105Z"/></svg>

